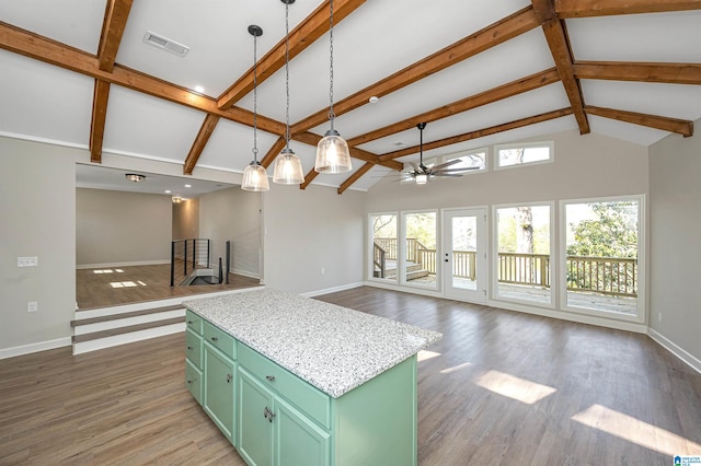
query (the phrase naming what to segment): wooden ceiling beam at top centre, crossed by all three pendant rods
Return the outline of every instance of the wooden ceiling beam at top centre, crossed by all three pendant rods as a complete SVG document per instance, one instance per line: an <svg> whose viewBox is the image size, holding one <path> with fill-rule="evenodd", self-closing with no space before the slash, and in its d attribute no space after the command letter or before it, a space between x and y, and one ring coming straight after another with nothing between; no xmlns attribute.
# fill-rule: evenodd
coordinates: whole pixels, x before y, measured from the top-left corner
<svg viewBox="0 0 701 466"><path fill-rule="evenodd" d="M335 0L333 3L334 24L353 13L366 0ZM289 33L289 59L298 56L302 50L312 45L319 37L329 31L329 1L324 1L317 10L304 19ZM272 77L285 66L285 39L280 40L271 51L265 54L257 62L257 82ZM217 100L217 106L226 109L239 102L253 90L253 67L231 85Z"/></svg>

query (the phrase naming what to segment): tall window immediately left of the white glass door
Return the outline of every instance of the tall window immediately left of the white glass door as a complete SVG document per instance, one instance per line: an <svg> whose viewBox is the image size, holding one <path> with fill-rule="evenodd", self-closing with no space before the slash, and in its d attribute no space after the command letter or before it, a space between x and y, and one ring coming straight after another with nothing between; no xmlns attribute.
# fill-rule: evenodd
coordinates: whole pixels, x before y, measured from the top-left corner
<svg viewBox="0 0 701 466"><path fill-rule="evenodd" d="M436 281L436 211L404 213L403 282L437 289Z"/></svg>

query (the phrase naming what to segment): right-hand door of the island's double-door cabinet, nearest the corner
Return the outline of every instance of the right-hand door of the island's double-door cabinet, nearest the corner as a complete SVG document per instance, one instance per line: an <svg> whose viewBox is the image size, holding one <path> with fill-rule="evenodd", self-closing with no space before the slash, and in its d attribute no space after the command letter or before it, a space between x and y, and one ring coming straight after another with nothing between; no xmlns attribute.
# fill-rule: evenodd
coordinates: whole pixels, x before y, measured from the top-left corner
<svg viewBox="0 0 701 466"><path fill-rule="evenodd" d="M326 466L331 435L280 398L275 398L275 465Z"/></svg>

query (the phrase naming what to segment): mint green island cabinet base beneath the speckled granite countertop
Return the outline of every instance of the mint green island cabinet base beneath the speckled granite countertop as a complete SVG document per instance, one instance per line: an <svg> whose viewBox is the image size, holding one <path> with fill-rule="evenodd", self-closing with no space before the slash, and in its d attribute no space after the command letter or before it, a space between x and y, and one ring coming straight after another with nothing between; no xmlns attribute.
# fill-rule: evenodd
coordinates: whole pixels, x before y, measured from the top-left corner
<svg viewBox="0 0 701 466"><path fill-rule="evenodd" d="M416 356L333 398L187 312L185 378L251 466L416 465Z"/></svg>

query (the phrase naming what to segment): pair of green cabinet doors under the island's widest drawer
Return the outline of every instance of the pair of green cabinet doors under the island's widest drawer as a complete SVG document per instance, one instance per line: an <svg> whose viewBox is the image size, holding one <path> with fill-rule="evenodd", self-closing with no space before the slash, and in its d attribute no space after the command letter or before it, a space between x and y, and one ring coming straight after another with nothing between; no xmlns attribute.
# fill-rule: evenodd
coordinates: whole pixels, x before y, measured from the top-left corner
<svg viewBox="0 0 701 466"><path fill-rule="evenodd" d="M239 453L249 465L325 466L331 434L239 369Z"/></svg>

